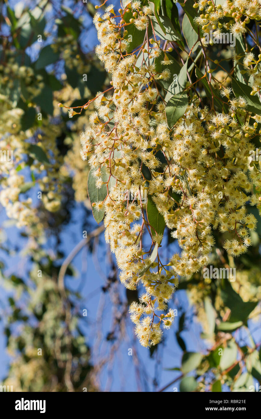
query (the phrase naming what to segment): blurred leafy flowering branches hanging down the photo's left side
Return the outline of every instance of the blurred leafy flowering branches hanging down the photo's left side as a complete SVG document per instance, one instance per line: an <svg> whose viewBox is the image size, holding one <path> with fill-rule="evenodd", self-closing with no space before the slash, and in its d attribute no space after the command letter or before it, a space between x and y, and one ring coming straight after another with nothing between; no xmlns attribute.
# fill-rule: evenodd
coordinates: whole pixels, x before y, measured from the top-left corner
<svg viewBox="0 0 261 419"><path fill-rule="evenodd" d="M79 295L63 292L57 281L64 256L57 249L74 200L89 212L88 168L79 154L88 117L69 122L57 103L77 106L106 83L105 71L79 39L88 33L84 16L90 22L95 9L82 2L71 2L72 9L49 1L1 3L0 144L13 150L13 163L0 165L0 202L10 218L2 225L1 248L13 250L5 229L14 224L30 260L21 277L5 277L1 263L4 286L13 290L2 313L14 357L7 381L16 391L94 391L89 348L74 313ZM51 236L52 254L46 245Z"/></svg>

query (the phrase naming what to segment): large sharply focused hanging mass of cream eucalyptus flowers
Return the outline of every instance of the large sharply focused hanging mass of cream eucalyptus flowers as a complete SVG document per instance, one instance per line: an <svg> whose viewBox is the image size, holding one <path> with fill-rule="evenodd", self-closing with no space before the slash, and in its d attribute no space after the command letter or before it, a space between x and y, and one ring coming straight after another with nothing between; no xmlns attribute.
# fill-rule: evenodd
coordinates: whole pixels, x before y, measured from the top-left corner
<svg viewBox="0 0 261 419"><path fill-rule="evenodd" d="M151 11L138 3L127 8L134 11L133 24L144 29L136 21L141 16L147 25ZM165 65L171 66L172 61L156 39L145 41L137 55L126 53L128 45L120 32L125 10L120 13L121 23L111 16L111 6L102 17L99 13L94 17L100 41L96 53L111 73L113 93L98 93L96 111L80 138L81 155L89 158L96 187L107 186L107 197L93 206L105 211L105 238L121 269L120 280L130 290L140 283L145 287L140 304L132 303L130 312L136 334L147 347L160 341L160 324L169 328L173 323L173 310L165 315L156 311L168 308L178 276L189 277L208 264L214 246L212 228L231 233L224 244L231 255L240 255L251 245L256 218L247 213L245 204L250 199L253 205L259 203L256 195L248 196L259 181L258 166L252 165L250 176L247 173L257 123L251 125L245 99L230 98L227 88L223 92L230 99L227 114L199 108L195 95L170 129L157 81L170 77L170 67ZM164 70L158 72L155 64L161 54ZM235 109L238 115L246 115L243 126L235 119ZM162 263L159 254L155 261L149 257L163 235L149 224L142 202L145 191L182 249L168 264ZM148 246L145 230L151 238Z"/></svg>

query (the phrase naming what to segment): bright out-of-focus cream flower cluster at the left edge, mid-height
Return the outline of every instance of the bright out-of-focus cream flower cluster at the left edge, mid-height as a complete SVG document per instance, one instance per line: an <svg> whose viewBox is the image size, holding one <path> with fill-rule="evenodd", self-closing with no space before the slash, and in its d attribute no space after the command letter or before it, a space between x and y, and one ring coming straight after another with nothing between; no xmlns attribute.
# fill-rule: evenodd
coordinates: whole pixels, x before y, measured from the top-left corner
<svg viewBox="0 0 261 419"><path fill-rule="evenodd" d="M17 220L18 227L34 225L34 228L41 230L42 226L37 224L38 218L32 199L23 199L25 176L21 174L21 170L26 168L27 162L24 155L30 154L31 144L41 147L50 160L56 161L54 165L48 165L35 159L34 164L31 165L31 172L34 176L41 175L38 179L38 186L43 194L45 207L52 212L59 209L61 185L58 182L57 168L61 164L61 159L59 161L55 138L60 129L56 125L50 125L48 120L43 120L40 129L34 127L23 131L21 127L23 110L12 109L4 96L2 96L1 104L0 144L1 150L5 150L9 158L1 159L0 203L5 207L8 217Z"/></svg>

